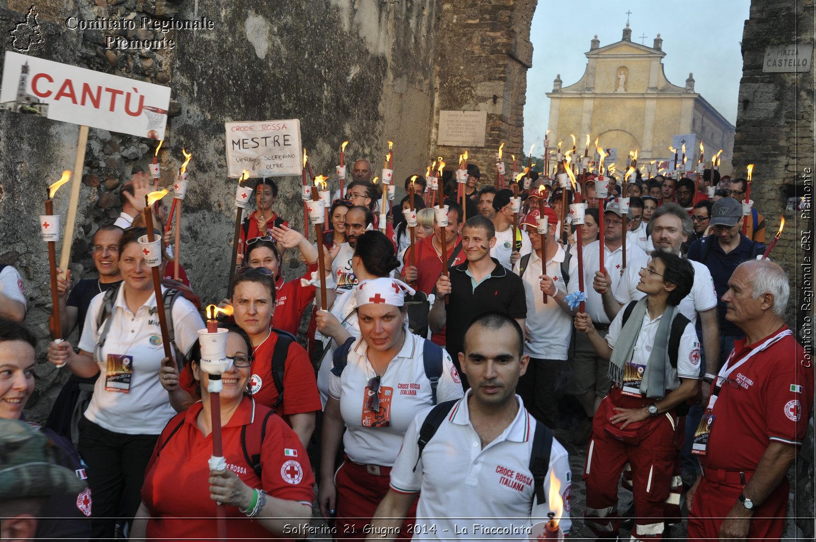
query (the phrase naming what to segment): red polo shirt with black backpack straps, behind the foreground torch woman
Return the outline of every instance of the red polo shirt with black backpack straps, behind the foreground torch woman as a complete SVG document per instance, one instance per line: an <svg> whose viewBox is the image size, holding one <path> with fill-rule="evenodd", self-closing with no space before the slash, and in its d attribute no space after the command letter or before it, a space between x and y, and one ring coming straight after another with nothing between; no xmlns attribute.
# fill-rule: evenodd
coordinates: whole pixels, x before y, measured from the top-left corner
<svg viewBox="0 0 816 542"><path fill-rule="evenodd" d="M277 344L277 334L270 332L263 343L255 347L255 361L252 362L250 391L255 401L266 407L277 402L277 388L272 378L272 354ZM308 353L298 343L289 344L286 365L283 370L283 402L277 409L282 416L302 414L322 410L320 393L317 392L312 362Z"/></svg>

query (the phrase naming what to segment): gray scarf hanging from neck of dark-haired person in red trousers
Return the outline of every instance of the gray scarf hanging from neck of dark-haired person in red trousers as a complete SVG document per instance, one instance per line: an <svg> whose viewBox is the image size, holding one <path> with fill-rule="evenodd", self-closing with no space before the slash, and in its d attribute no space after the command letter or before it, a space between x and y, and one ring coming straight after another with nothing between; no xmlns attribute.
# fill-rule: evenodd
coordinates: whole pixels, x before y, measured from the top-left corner
<svg viewBox="0 0 816 542"><path fill-rule="evenodd" d="M646 298L637 302L629 318L615 340L610 358L609 377L613 384L623 385L623 367L632 359L632 349L641 333L643 317L646 313ZM647 398L663 398L666 394L666 375L672 371L668 357L668 339L672 331L672 321L677 314L675 305L667 305L660 318L657 334L654 336L652 353L641 381L641 393Z"/></svg>

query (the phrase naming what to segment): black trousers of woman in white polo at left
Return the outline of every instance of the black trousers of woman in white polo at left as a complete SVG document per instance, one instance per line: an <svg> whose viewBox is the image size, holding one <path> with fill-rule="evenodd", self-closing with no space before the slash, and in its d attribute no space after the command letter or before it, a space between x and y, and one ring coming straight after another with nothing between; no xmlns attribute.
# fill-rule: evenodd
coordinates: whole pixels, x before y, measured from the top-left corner
<svg viewBox="0 0 816 542"><path fill-rule="evenodd" d="M113 540L117 520L130 524L141 503L144 470L158 435L129 435L79 421L79 451L88 465L91 538Z"/></svg>

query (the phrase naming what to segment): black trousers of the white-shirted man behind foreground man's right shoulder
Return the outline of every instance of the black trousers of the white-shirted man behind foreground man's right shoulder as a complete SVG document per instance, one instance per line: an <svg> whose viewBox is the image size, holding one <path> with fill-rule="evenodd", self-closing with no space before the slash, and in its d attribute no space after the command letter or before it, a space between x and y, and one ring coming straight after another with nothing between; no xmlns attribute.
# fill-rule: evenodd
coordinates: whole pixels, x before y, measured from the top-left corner
<svg viewBox="0 0 816 542"><path fill-rule="evenodd" d="M566 363L561 359L530 358L516 387L527 410L550 429L556 429L558 402L569 380Z"/></svg>

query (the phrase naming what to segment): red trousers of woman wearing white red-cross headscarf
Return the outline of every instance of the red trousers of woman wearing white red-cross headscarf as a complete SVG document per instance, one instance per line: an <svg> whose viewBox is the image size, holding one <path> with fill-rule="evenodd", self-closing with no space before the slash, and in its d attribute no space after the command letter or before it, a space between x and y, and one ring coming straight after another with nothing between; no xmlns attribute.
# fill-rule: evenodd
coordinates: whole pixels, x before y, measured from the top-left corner
<svg viewBox="0 0 816 542"><path fill-rule="evenodd" d="M366 538L364 528L369 525L379 502L388 493L388 482L391 481L391 469L380 467L380 475L369 474L365 465L344 461L335 473L337 486L337 540L363 540ZM410 540L408 526L416 522L416 504L411 505L400 531L400 540Z"/></svg>

